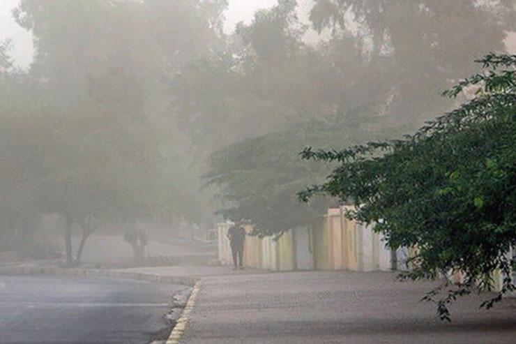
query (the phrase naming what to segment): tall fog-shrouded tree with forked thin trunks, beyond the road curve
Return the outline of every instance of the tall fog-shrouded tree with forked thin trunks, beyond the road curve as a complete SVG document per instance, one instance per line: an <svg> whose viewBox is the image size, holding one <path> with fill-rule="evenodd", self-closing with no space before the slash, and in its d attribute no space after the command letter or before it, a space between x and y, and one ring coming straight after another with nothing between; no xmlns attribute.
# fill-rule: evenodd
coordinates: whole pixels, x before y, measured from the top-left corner
<svg viewBox="0 0 516 344"><path fill-rule="evenodd" d="M47 103L31 112L42 121L35 195L43 211L66 218L69 263L73 223L83 230L80 251L100 220L182 216L184 203L195 207L183 197L192 190L174 161L183 147L165 87L217 44L224 5L22 1L15 11L35 36L29 75Z"/></svg>

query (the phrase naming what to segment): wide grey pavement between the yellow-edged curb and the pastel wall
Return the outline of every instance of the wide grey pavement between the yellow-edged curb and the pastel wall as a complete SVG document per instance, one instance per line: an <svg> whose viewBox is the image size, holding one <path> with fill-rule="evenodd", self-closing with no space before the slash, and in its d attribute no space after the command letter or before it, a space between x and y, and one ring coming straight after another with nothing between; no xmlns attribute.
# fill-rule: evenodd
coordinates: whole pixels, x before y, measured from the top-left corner
<svg viewBox="0 0 516 344"><path fill-rule="evenodd" d="M516 343L516 299L490 311L461 300L453 322L418 300L429 283L390 273L298 272L204 279L183 341L208 343Z"/></svg>

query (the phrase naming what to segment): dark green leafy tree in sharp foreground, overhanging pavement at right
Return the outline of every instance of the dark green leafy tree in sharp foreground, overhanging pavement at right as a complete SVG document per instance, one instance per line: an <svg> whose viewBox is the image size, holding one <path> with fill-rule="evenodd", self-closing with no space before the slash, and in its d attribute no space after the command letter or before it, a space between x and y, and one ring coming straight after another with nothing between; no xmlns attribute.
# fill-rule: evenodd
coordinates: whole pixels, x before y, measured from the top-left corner
<svg viewBox="0 0 516 344"><path fill-rule="evenodd" d="M307 148L303 158L340 163L328 181L299 193L325 193L356 204L351 218L376 223L391 248L416 246L414 268L402 278L437 278L462 271L424 299L437 302L441 319L456 297L492 288L496 269L503 286L482 306L515 290L507 257L516 244L516 56L489 54L474 75L445 94L475 96L402 140L377 141L342 151ZM439 294L443 288L450 289Z"/></svg>

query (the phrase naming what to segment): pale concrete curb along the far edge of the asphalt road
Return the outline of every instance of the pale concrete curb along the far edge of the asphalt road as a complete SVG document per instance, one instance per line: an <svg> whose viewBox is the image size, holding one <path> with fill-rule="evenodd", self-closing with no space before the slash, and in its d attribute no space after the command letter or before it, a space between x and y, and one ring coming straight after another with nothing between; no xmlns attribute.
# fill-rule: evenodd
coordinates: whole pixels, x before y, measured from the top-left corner
<svg viewBox="0 0 516 344"><path fill-rule="evenodd" d="M193 287L200 278L187 276L158 276L141 272L112 271L102 269L62 269L59 267L0 267L0 275L11 276L98 276L128 278L136 281L149 281L155 283L175 283Z"/></svg>

